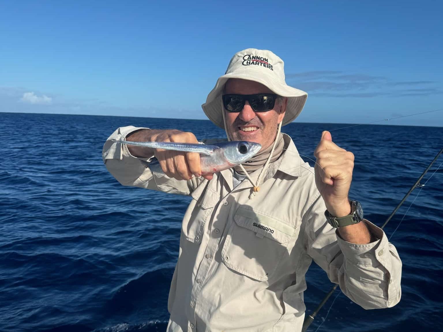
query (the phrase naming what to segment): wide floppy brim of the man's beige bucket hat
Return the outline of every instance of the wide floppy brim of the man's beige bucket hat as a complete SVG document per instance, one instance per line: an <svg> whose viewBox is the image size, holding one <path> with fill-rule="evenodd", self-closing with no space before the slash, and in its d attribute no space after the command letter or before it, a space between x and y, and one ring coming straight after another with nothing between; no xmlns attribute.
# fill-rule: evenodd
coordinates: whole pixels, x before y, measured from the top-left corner
<svg viewBox="0 0 443 332"><path fill-rule="evenodd" d="M258 76L258 75L257 75ZM221 95L223 94L223 88L225 83L230 78L241 78L244 80L252 80L268 87L272 92L282 97L288 98L288 104L286 106L286 114L284 115L282 126L287 125L294 121L299 116L300 112L306 103L307 93L288 86L280 81L273 80L271 77L267 77L267 82L264 82L260 77L251 75L249 72L228 73L220 76L215 84L215 87L209 93L206 98L206 103L202 105L202 109L206 116L220 128L225 128L223 123L223 103L221 101Z"/></svg>

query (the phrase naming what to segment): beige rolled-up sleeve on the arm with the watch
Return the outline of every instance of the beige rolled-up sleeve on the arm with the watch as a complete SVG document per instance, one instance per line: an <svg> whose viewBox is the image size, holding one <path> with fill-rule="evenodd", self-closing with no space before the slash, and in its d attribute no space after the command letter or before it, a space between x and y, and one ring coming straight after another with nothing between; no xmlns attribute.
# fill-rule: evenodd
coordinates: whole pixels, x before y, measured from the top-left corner
<svg viewBox="0 0 443 332"><path fill-rule="evenodd" d="M369 244L343 240L324 217L321 196L305 214L306 248L331 282L364 309L387 308L400 301L401 260L382 229L364 220L378 239Z"/></svg>

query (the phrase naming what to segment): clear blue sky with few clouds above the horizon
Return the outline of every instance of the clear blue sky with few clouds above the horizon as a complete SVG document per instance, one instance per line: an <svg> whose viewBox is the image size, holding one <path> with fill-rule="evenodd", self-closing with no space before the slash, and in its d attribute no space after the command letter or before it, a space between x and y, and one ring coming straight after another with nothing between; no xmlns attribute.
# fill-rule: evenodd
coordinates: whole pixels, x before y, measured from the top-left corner
<svg viewBox="0 0 443 332"><path fill-rule="evenodd" d="M0 0L0 112L203 119L230 58L253 47L309 94L295 121L434 111L385 123L443 126L442 12L437 0Z"/></svg>

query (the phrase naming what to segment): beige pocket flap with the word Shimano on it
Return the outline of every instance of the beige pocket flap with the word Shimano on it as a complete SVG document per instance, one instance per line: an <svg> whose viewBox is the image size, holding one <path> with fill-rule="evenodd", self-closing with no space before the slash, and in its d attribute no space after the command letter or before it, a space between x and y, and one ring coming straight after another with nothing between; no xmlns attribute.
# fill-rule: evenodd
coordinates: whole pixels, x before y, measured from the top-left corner
<svg viewBox="0 0 443 332"><path fill-rule="evenodd" d="M240 227L256 232L257 236L265 236L278 243L286 243L291 240L295 231L293 227L283 221L242 207L238 208L234 220Z"/></svg>

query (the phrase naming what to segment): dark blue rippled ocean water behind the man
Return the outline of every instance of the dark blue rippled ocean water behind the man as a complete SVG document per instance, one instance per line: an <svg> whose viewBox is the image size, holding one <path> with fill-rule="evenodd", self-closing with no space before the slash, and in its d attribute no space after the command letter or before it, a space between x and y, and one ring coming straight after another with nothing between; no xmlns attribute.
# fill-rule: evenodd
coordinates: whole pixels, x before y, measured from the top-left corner
<svg viewBox="0 0 443 332"><path fill-rule="evenodd" d="M165 330L190 199L123 187L106 171L103 143L127 125L224 136L202 120L0 113L0 331ZM295 122L283 131L313 157L322 130L344 126ZM351 197L377 225L443 145L438 127L365 125L331 133L355 154ZM321 323L319 332L443 330L442 162L443 156L385 228L389 237L402 221L390 240L403 261L400 303L368 311L340 294L330 307L337 290L308 331ZM307 283L309 313L332 284L315 263Z"/></svg>

